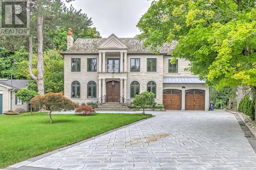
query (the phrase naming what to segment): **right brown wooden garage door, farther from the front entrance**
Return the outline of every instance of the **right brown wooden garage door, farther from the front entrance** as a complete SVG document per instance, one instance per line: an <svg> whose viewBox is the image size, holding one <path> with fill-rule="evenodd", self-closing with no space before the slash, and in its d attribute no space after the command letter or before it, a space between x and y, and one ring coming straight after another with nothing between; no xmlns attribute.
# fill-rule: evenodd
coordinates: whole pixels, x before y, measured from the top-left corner
<svg viewBox="0 0 256 170"><path fill-rule="evenodd" d="M185 110L204 110L203 90L186 90Z"/></svg>

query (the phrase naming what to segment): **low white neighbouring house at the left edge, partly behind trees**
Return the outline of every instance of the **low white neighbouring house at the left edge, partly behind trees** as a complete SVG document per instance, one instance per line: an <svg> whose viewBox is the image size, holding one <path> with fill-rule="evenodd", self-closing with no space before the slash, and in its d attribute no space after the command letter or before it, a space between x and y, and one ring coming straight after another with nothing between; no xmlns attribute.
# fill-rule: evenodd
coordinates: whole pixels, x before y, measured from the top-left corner
<svg viewBox="0 0 256 170"><path fill-rule="evenodd" d="M0 114L3 111L28 111L28 104L16 98L15 92L28 85L28 80L0 79Z"/></svg>

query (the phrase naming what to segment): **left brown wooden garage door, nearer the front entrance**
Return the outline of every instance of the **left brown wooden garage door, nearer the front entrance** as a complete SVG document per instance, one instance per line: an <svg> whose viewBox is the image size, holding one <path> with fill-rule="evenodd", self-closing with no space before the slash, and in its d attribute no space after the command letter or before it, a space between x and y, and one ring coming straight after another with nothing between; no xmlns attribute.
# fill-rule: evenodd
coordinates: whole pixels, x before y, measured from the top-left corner
<svg viewBox="0 0 256 170"><path fill-rule="evenodd" d="M181 90L163 90L163 105L165 110L181 110Z"/></svg>

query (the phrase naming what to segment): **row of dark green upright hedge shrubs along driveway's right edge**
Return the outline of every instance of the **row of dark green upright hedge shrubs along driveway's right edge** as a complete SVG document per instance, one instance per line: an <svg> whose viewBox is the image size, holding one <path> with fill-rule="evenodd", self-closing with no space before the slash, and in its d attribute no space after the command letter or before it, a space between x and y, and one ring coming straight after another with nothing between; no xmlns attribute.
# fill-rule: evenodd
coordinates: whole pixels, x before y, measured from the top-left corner
<svg viewBox="0 0 256 170"><path fill-rule="evenodd" d="M250 116L252 120L254 120L254 101L250 99L249 95L246 95L240 102L238 111L243 112L244 114Z"/></svg>

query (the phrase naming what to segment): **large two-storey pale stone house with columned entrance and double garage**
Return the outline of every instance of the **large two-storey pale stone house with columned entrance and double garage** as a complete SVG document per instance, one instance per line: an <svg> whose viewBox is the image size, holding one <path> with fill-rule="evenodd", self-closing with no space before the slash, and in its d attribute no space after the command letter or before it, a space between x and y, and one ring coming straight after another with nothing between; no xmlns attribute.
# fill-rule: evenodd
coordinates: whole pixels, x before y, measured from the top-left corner
<svg viewBox="0 0 256 170"><path fill-rule="evenodd" d="M164 43L160 54L143 48L137 38L78 38L68 34L64 94L77 103L122 103L145 90L156 94L166 110L208 110L209 88L184 69L189 62L178 58L170 64L177 42ZM123 100L124 99L124 100Z"/></svg>

